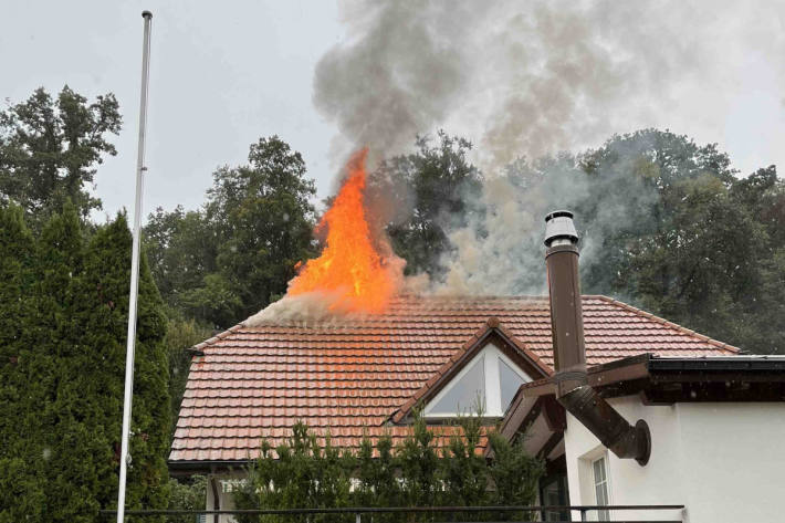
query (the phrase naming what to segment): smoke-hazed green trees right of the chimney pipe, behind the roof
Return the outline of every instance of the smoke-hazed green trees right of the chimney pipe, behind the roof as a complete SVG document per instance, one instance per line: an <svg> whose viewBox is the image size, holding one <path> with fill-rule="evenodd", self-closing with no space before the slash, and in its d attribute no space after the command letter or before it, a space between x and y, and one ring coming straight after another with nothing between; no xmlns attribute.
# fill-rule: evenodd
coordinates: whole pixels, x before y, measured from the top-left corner
<svg viewBox="0 0 785 523"><path fill-rule="evenodd" d="M751 352L785 351L781 322L785 185L774 167L735 177L728 155L653 129L583 157L592 181L579 221L605 227L588 293L621 295ZM613 195L613 196L609 196ZM617 220L599 217L619 208Z"/></svg>

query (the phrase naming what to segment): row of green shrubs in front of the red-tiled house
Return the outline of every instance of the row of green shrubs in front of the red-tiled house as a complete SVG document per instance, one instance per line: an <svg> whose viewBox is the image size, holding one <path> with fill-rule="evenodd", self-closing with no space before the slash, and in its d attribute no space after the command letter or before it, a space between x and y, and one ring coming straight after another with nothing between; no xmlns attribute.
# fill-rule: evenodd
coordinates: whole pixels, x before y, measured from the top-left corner
<svg viewBox="0 0 785 523"><path fill-rule="evenodd" d="M489 442L496 458L489 462L477 452L485 430L482 418L464 417L459 425L462 436L450 437L442 449L417 416L411 432L395 449L391 438L381 436L376 444L366 437L356 451L339 452L329 438L321 448L318 438L299 422L290 440L274 452L262 442L260 458L248 469L248 481L233 493L234 504L238 509L532 504L544 472L542 460L526 454L522 443L511 444L491 432ZM461 514L461 520L483 516L489 514ZM291 523L294 517L240 516L239 521ZM374 515L385 523L442 519L440 514ZM348 522L352 515L322 514L314 520Z"/></svg>

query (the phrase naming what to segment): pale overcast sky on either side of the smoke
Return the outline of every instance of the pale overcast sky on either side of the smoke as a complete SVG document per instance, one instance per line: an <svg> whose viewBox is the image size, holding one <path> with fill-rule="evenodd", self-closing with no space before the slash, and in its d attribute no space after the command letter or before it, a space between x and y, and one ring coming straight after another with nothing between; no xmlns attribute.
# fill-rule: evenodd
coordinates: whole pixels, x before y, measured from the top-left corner
<svg viewBox="0 0 785 523"><path fill-rule="evenodd" d="M771 4L778 7L744 14L760 18L782 42L782 3ZM312 93L316 63L345 38L334 2L4 2L0 98L17 103L39 86L55 93L69 84L91 100L112 92L119 101L118 154L96 177L106 212L133 205L143 9L154 12L145 215L158 206L199 206L217 166L243 163L249 144L272 134L303 154L320 197L333 189L337 128L314 108ZM718 44L733 46L736 38L729 32ZM778 52L785 46L768 43L747 39L729 67L714 64L711 80L674 91L679 98L656 117L636 116L613 130L667 126L718 142L743 174L785 163L785 57ZM718 71L728 82L713 96ZM472 137L471 122L448 130Z"/></svg>

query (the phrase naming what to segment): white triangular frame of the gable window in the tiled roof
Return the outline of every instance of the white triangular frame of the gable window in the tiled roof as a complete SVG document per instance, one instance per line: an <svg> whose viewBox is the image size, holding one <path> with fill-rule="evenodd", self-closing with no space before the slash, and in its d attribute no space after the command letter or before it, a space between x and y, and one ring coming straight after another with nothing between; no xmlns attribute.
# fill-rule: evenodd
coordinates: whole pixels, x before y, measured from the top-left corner
<svg viewBox="0 0 785 523"><path fill-rule="evenodd" d="M501 387L501 368L499 366L499 360L504 362L522 380L523 383L528 383L532 378L521 370L517 365L515 365L512 359L510 359L504 353L502 353L499 347L494 344L489 343L482 351L480 351L471 360L463 366L463 368L439 390L433 399L428 401L426 408L422 410L422 415L426 418L456 418L458 416L472 415L473 405L468 405L465 410L462 412L439 412L431 410L439 401L450 391L452 387L460 381L460 379L465 376L467 373L474 365L482 359L483 373L484 373L484 384L485 384L485 409L483 416L491 418L501 418L504 416L504 410L502 409L502 387ZM463 408L463 406L461 406Z"/></svg>

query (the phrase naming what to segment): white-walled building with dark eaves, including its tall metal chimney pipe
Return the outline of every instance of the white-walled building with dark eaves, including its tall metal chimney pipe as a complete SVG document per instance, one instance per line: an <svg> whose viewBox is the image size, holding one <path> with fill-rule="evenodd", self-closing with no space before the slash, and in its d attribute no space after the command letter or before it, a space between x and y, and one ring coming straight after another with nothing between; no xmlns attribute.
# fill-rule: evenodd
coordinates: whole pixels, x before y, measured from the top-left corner
<svg viewBox="0 0 785 523"><path fill-rule="evenodd" d="M524 444L542 456L564 449L573 505L678 503L683 521L781 521L785 358L646 352L590 366L572 218L546 218L555 373L521 386L502 432L533 435ZM541 499L564 504L564 475L550 475Z"/></svg>

